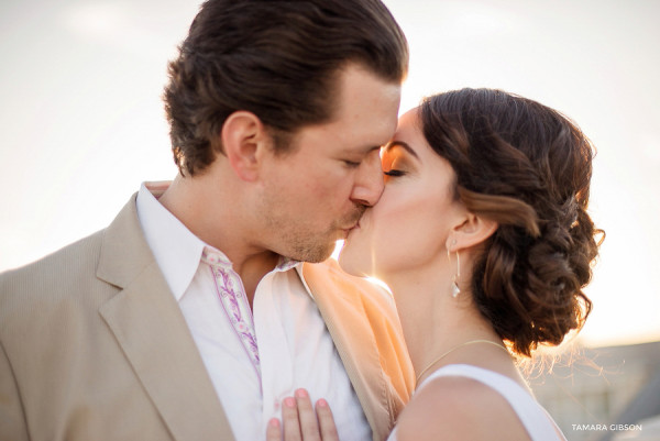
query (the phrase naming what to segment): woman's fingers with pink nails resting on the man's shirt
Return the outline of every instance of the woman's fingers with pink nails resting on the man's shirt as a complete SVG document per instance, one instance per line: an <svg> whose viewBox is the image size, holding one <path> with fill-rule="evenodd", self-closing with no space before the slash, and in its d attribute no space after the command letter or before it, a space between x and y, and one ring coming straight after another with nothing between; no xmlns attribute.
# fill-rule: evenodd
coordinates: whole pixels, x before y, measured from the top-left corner
<svg viewBox="0 0 660 441"><path fill-rule="evenodd" d="M339 441L328 401L319 399L315 411L307 390L298 389L295 395L295 398L286 398L282 406L284 441ZM279 420L273 418L268 421L266 441L282 441L282 437Z"/></svg>

